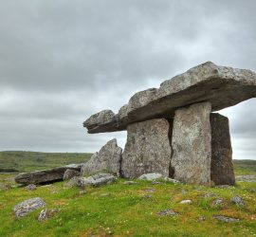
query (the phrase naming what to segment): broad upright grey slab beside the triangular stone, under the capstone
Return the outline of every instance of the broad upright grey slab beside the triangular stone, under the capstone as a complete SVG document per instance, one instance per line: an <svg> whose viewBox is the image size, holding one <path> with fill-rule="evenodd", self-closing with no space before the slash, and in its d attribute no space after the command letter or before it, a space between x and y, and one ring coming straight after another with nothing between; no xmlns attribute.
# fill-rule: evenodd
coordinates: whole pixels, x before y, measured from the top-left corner
<svg viewBox="0 0 256 237"><path fill-rule="evenodd" d="M171 146L169 122L164 118L130 124L122 154L121 174L134 178L144 173L169 176Z"/></svg>

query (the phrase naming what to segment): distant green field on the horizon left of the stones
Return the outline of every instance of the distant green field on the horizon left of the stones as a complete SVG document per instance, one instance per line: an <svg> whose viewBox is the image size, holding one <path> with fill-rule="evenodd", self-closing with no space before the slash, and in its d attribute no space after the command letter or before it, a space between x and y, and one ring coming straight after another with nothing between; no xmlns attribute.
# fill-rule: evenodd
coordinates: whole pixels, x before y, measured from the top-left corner
<svg viewBox="0 0 256 237"><path fill-rule="evenodd" d="M90 158L87 153L0 152L0 172L29 172L45 170Z"/></svg>

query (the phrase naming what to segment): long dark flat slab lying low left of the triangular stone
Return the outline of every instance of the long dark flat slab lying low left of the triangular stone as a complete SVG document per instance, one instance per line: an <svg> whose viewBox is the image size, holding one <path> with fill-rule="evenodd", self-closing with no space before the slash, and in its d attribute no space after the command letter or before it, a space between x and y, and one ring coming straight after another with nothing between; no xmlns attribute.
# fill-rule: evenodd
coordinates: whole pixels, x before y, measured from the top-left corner
<svg viewBox="0 0 256 237"><path fill-rule="evenodd" d="M63 167L53 168L45 171L29 172L29 173L20 173L14 180L19 184L42 184L47 182L56 182L63 180L64 172L67 169L81 171L82 165L67 165Z"/></svg>

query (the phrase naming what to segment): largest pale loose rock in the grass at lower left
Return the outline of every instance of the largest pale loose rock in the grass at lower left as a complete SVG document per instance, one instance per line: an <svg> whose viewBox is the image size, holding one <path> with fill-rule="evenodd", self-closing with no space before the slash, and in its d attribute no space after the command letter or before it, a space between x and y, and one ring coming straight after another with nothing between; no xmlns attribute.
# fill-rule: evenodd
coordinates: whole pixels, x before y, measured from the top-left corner
<svg viewBox="0 0 256 237"><path fill-rule="evenodd" d="M20 218L26 216L29 212L33 210L38 210L45 206L46 203L41 197L34 197L18 204L14 207L13 211L15 212L16 216Z"/></svg>

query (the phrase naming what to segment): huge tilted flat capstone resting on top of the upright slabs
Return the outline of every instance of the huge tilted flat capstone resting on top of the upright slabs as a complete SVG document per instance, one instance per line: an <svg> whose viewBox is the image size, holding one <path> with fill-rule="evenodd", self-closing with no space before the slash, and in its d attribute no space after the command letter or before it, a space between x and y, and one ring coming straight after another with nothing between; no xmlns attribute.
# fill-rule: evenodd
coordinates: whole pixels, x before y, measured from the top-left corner
<svg viewBox="0 0 256 237"><path fill-rule="evenodd" d="M177 108L209 101L211 111L256 97L256 73L207 62L162 82L159 88L137 92L118 114L103 110L83 122L89 134L126 130L129 123L174 118Z"/></svg>

